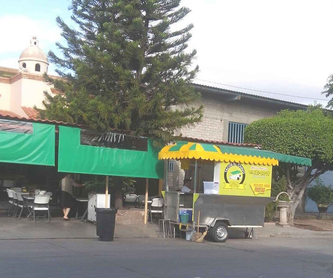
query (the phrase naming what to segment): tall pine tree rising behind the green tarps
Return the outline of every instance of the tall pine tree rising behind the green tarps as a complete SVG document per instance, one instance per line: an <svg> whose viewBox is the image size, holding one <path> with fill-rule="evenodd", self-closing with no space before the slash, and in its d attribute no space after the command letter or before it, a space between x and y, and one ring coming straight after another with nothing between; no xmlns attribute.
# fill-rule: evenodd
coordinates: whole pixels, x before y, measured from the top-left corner
<svg viewBox="0 0 333 278"><path fill-rule="evenodd" d="M63 94L45 92L41 117L150 134L160 144L201 120L203 107L191 107L200 97L190 84L196 51L185 52L193 25L173 30L190 12L180 0L72 0L70 9L76 28L56 19L63 57L48 53L63 78L45 76Z"/></svg>

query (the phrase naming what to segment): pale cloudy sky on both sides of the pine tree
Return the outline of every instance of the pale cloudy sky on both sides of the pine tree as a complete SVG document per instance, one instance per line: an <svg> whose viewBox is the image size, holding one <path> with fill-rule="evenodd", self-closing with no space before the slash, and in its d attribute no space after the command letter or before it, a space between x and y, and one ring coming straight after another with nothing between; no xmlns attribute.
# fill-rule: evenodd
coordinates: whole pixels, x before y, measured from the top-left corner
<svg viewBox="0 0 333 278"><path fill-rule="evenodd" d="M333 1L183 0L193 23L188 49L196 49L195 83L297 103L321 94L333 74ZM39 46L57 52L63 42L55 18L71 24L70 1L0 0L0 66L17 68L21 51L37 36ZM49 73L55 67L50 65ZM204 80L204 81L202 81ZM231 86L261 90L263 93ZM283 94L283 95L281 95ZM292 96L286 96L293 95Z"/></svg>

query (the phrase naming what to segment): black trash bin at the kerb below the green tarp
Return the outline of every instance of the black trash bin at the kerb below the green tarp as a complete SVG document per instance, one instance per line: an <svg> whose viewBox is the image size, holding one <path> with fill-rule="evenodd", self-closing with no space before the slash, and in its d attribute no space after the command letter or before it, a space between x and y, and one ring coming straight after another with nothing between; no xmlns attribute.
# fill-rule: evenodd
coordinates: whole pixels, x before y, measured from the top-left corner
<svg viewBox="0 0 333 278"><path fill-rule="evenodd" d="M116 213L115 208L96 208L96 234L102 241L113 241L115 234Z"/></svg>

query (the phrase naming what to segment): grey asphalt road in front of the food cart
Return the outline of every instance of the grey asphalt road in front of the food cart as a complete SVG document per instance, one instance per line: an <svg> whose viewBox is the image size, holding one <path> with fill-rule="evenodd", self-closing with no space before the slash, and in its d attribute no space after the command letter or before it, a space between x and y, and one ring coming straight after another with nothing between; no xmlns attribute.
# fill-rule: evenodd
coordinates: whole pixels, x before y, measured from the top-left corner
<svg viewBox="0 0 333 278"><path fill-rule="evenodd" d="M333 238L1 240L0 277L333 277Z"/></svg>

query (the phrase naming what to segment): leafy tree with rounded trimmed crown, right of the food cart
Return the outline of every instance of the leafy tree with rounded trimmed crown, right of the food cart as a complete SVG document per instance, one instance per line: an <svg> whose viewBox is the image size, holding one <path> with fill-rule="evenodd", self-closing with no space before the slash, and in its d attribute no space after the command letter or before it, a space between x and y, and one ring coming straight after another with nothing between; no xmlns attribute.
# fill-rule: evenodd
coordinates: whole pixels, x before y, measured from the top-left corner
<svg viewBox="0 0 333 278"><path fill-rule="evenodd" d="M328 170L333 162L333 118L324 110L284 110L276 116L261 119L245 128L245 142L260 144L263 150L286 155L307 157L312 166L300 169L297 165L280 163L280 176L287 179L287 192L294 202L288 211L293 224L296 207L307 185Z"/></svg>

